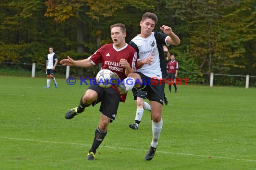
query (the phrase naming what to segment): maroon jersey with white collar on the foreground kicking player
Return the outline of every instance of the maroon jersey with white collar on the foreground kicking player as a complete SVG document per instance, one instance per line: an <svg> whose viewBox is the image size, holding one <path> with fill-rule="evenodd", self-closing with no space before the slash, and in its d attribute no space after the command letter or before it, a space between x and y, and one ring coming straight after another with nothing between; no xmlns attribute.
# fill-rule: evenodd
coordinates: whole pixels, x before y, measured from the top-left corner
<svg viewBox="0 0 256 170"><path fill-rule="evenodd" d="M90 56L90 60L93 64L102 63L102 69L111 70L112 72L117 73L121 80L124 80L127 76L125 75L125 68L119 63L120 59L126 59L131 68L134 71L136 70L137 52L128 44L121 49L116 49L114 43L106 44ZM119 93L114 85L111 87ZM124 102L126 94L120 95L120 98L122 102Z"/></svg>

